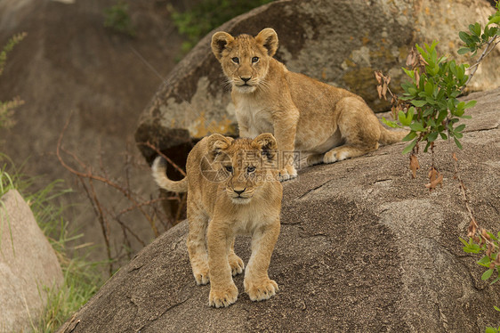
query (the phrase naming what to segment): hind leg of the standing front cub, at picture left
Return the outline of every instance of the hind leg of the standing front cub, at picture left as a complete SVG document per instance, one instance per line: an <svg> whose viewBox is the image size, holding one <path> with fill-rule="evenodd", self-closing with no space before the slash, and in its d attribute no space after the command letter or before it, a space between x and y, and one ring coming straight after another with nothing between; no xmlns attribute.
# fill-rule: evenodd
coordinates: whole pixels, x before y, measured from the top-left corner
<svg viewBox="0 0 500 333"><path fill-rule="evenodd" d="M208 215L188 200L188 221L190 231L188 234L188 253L193 275L198 285L208 283L208 254L206 252L206 226Z"/></svg>

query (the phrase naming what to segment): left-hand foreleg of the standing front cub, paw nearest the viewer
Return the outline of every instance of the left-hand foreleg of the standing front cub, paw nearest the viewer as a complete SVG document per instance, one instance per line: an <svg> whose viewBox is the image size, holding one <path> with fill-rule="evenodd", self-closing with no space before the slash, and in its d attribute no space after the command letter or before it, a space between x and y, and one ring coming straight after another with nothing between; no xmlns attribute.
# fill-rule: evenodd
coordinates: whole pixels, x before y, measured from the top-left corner
<svg viewBox="0 0 500 333"><path fill-rule="evenodd" d="M238 288L232 280L229 261L231 244L234 242L234 235L230 232L229 225L213 219L206 233L208 267L210 268L208 304L215 307L229 306L238 299Z"/></svg>

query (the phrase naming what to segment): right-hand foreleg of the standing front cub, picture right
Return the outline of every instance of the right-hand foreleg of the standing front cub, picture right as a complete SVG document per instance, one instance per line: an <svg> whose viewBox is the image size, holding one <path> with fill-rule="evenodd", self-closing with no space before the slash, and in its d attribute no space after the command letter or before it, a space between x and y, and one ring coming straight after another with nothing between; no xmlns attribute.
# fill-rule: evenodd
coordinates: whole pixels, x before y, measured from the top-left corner
<svg viewBox="0 0 500 333"><path fill-rule="evenodd" d="M252 237L252 255L245 271L245 292L253 301L262 301L276 295L278 283L270 280L268 268L270 256L279 235L279 219L272 224L262 226L254 231Z"/></svg>

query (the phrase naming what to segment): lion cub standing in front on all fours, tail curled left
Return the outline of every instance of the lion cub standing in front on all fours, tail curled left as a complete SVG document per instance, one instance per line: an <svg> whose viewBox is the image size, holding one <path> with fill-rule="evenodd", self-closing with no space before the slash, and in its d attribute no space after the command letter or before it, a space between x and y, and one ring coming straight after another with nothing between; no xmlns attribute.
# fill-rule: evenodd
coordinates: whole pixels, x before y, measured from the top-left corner
<svg viewBox="0 0 500 333"><path fill-rule="evenodd" d="M238 298L231 272L236 275L245 267L233 248L240 233L252 235L246 293L261 301L278 291L267 272L278 240L283 196L276 148L272 134L260 134L254 140L212 134L190 151L187 176L178 182L166 177L163 158L153 163L158 186L188 191L190 263L198 285L210 278L209 305L228 306Z"/></svg>

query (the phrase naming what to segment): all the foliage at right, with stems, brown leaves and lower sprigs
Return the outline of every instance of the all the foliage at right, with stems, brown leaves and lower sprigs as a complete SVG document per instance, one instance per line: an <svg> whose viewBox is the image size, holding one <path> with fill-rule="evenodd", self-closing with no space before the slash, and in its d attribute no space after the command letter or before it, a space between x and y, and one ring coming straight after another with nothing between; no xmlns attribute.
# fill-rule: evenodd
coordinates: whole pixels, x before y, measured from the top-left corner
<svg viewBox="0 0 500 333"><path fill-rule="evenodd" d="M418 152L418 142L427 142L424 151L431 148L432 167L429 173L431 183L426 186L433 189L442 181L442 175L434 168L433 148L434 142L440 136L450 142L453 138L456 146L462 149L460 139L463 137L465 125L458 124L461 118L470 118L464 115L464 111L475 105L475 101L459 102L457 97L464 92L464 88L472 79L478 69L480 62L500 43L500 4L496 1L496 13L488 17L485 28L481 28L479 23L469 25L469 31L461 31L459 37L464 41L464 47L458 53L472 53L475 56L478 51L483 50L480 58L469 68L466 64L457 64L456 61L448 61L446 57L438 57L436 52L436 42L431 45L420 47L416 45L416 50L412 49L407 58L407 66L411 69L403 69L410 78L409 82L403 83L403 95L395 96L391 93L388 85L391 77L384 77L382 72L375 72L375 77L379 83L377 90L379 97L386 99L385 93L391 93L391 110L394 119L390 121L383 119L383 122L391 127L409 127L410 132L403 141L410 142L403 150L403 153L412 152L410 155L410 168L415 178L416 169L419 168L416 153ZM466 75L466 69L469 74ZM451 143L450 143L451 144ZM464 251L466 253L484 255L477 262L481 266L488 268L481 275L481 280L488 280L492 277L491 284L500 280L500 255L499 240L500 232L493 234L486 229L480 228L472 213L470 201L465 192L462 178L458 174L458 159L453 153L455 161L455 177L464 196L464 203L471 223L468 230L469 240L463 240ZM496 311L500 308L495 306ZM486 328L487 333L500 333L500 328Z"/></svg>

